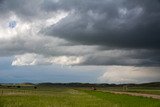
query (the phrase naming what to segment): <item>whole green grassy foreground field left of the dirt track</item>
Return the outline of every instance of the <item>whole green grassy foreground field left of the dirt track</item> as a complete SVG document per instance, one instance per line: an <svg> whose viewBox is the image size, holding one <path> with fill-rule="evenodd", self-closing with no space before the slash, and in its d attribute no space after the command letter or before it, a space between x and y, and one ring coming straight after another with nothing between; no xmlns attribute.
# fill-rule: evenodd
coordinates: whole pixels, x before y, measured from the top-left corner
<svg viewBox="0 0 160 107"><path fill-rule="evenodd" d="M0 89L0 107L160 107L160 100L65 87Z"/></svg>

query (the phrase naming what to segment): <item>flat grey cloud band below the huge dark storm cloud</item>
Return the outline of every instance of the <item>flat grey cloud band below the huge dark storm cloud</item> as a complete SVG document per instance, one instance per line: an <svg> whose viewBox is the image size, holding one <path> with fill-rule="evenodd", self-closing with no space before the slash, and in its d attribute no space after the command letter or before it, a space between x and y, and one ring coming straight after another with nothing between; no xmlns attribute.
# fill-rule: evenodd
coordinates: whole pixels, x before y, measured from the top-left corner
<svg viewBox="0 0 160 107"><path fill-rule="evenodd" d="M160 66L160 51L112 50L85 57L82 65Z"/></svg>

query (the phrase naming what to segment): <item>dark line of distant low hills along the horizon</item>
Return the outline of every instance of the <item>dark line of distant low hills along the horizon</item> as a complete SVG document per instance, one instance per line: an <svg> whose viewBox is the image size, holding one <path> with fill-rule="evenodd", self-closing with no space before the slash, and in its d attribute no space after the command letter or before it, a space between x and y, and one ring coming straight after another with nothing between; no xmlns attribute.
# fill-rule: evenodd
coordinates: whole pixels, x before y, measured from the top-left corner
<svg viewBox="0 0 160 107"><path fill-rule="evenodd" d="M143 84L107 84L107 83L1 83L0 86L65 86L65 87L121 87L127 85L128 87L156 87L160 88L160 82L143 83Z"/></svg>

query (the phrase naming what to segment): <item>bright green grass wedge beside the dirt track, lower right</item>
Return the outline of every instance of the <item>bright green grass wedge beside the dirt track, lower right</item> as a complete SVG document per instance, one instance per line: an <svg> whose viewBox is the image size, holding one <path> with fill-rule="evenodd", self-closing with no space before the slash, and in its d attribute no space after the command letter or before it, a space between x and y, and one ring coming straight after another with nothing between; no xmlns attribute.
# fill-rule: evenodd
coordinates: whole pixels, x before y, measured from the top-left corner
<svg viewBox="0 0 160 107"><path fill-rule="evenodd" d="M112 104L117 104L117 107L159 107L160 106L159 100L155 100L151 98L111 94L111 93L101 92L101 91L84 90L84 92L88 93L89 95L93 95L97 98L107 100Z"/></svg>

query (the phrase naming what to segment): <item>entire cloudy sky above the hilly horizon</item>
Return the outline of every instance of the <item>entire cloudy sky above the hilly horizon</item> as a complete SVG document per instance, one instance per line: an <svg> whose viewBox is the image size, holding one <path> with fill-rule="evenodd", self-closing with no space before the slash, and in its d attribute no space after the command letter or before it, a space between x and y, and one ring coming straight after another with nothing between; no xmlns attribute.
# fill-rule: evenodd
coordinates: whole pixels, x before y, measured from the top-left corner
<svg viewBox="0 0 160 107"><path fill-rule="evenodd" d="M160 82L160 0L0 0L11 82Z"/></svg>

